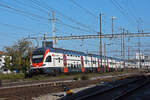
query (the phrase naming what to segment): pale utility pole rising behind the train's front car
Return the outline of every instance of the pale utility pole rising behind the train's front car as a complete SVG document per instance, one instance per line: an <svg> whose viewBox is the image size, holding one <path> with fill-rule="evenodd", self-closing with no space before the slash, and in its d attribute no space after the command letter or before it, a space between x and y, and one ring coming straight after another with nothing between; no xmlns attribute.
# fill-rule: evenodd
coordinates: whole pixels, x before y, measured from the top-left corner
<svg viewBox="0 0 150 100"><path fill-rule="evenodd" d="M56 44L56 39L54 38L55 37L55 32L56 32L56 30L55 30L55 13L54 13L54 11L52 11L52 19L50 19L51 20L51 22L52 22L52 40L53 40L53 47L55 47L55 44Z"/></svg>

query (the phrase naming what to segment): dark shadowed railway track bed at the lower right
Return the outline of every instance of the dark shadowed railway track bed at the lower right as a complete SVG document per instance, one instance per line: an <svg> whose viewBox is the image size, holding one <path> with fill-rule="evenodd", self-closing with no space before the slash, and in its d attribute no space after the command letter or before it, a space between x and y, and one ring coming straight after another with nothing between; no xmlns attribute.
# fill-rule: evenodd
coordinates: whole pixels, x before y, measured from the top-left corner
<svg viewBox="0 0 150 100"><path fill-rule="evenodd" d="M124 97L133 93L137 89L142 88L146 84L148 84L149 76L140 76L137 78L133 78L131 80L122 81L119 84L105 86L105 87L95 87L93 90L88 90L89 94L82 95L80 93L78 98L74 100L122 100ZM72 98L77 97L77 95L72 97L64 97L63 100L71 100Z"/></svg>

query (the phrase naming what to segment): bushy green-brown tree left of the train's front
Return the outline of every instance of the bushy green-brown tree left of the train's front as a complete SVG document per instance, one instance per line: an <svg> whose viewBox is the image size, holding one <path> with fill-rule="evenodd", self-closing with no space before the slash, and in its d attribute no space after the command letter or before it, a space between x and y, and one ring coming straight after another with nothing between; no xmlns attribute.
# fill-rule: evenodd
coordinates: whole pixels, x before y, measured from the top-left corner
<svg viewBox="0 0 150 100"><path fill-rule="evenodd" d="M11 61L5 60L4 68L25 72L30 66L30 54L32 51L31 43L27 40L19 40L13 46L4 48Z"/></svg>

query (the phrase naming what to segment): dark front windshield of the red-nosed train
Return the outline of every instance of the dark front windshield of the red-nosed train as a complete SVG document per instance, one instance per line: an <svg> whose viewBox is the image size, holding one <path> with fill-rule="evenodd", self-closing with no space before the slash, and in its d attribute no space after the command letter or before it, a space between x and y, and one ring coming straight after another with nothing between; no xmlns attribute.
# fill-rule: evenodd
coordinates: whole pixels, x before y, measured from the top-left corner
<svg viewBox="0 0 150 100"><path fill-rule="evenodd" d="M44 57L44 50L35 50L32 53L32 62L33 63L41 63Z"/></svg>

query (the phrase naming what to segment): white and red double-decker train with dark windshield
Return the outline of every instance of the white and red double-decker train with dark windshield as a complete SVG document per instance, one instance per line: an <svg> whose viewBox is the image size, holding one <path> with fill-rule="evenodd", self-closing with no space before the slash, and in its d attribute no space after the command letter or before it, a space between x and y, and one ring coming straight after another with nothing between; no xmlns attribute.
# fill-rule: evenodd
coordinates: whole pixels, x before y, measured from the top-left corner
<svg viewBox="0 0 150 100"><path fill-rule="evenodd" d="M52 47L33 50L30 61L31 74L110 72L124 66L117 58Z"/></svg>

